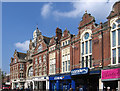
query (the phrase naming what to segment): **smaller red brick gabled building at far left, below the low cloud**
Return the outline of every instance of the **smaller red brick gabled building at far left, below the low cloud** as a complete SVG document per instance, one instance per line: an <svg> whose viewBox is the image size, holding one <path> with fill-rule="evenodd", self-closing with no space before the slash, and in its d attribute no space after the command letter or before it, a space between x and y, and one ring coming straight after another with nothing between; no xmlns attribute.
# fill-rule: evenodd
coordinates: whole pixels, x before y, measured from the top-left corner
<svg viewBox="0 0 120 91"><path fill-rule="evenodd" d="M12 89L24 88L26 78L26 60L27 56L25 53L14 52L14 58L11 57L10 63L10 83Z"/></svg>

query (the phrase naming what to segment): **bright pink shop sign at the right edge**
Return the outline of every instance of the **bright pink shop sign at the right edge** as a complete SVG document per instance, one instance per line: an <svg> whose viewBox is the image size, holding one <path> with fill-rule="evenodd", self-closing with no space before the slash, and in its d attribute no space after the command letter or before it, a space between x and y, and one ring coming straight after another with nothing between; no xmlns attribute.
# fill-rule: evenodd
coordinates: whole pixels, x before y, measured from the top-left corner
<svg viewBox="0 0 120 91"><path fill-rule="evenodd" d="M120 68L102 70L102 80L120 78Z"/></svg>

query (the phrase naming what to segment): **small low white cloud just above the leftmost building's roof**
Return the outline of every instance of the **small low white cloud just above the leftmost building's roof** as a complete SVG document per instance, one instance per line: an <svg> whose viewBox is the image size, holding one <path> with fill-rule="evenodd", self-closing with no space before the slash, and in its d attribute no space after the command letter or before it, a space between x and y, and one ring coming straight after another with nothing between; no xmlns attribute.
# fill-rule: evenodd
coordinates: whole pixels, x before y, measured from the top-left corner
<svg viewBox="0 0 120 91"><path fill-rule="evenodd" d="M17 42L15 43L15 47L20 49L21 51L27 51L29 49L29 40L26 40L24 42Z"/></svg>

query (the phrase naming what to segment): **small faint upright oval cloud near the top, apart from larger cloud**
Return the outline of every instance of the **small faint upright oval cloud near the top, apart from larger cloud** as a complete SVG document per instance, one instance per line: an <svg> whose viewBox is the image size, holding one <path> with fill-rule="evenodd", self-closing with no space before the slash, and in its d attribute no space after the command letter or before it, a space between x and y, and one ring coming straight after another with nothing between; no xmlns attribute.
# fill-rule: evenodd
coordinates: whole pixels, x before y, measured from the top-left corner
<svg viewBox="0 0 120 91"><path fill-rule="evenodd" d="M49 16L50 12L52 9L52 3L47 3L45 5L43 5L42 9L41 9L41 15L46 18Z"/></svg>

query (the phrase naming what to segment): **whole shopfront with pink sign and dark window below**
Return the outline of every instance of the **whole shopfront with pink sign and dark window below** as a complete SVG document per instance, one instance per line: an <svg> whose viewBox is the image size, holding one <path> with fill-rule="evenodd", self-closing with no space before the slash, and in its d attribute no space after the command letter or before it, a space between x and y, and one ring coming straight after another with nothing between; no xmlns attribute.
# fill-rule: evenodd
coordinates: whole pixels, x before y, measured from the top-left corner
<svg viewBox="0 0 120 91"><path fill-rule="evenodd" d="M105 90L120 91L120 68L102 70L101 79Z"/></svg>

